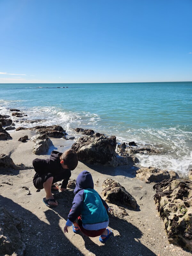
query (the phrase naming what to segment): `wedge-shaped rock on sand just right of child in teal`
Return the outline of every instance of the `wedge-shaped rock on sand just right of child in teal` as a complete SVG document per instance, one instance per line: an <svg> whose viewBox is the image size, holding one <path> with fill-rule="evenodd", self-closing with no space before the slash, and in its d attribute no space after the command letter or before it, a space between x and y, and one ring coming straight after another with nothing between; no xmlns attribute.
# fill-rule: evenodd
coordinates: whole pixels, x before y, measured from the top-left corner
<svg viewBox="0 0 192 256"><path fill-rule="evenodd" d="M135 198L119 182L107 179L103 182L102 187L102 196L106 202L133 209L137 208Z"/></svg>

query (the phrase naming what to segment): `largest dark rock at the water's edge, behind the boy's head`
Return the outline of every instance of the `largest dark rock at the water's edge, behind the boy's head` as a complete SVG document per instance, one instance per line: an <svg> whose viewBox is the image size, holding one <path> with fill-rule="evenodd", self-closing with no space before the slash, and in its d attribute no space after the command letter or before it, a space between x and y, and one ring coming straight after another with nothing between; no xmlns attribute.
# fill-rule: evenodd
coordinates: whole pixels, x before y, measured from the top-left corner
<svg viewBox="0 0 192 256"><path fill-rule="evenodd" d="M84 136L79 138L71 147L78 155L79 161L88 164L109 164L117 166L116 137Z"/></svg>

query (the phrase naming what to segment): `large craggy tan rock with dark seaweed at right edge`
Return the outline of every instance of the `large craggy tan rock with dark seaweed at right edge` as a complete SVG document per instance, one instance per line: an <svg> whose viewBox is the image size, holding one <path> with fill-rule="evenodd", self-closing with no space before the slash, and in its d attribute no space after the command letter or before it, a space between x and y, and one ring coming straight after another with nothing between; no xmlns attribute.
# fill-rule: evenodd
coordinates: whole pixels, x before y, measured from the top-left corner
<svg viewBox="0 0 192 256"><path fill-rule="evenodd" d="M169 242L192 251L192 181L169 179L153 188Z"/></svg>

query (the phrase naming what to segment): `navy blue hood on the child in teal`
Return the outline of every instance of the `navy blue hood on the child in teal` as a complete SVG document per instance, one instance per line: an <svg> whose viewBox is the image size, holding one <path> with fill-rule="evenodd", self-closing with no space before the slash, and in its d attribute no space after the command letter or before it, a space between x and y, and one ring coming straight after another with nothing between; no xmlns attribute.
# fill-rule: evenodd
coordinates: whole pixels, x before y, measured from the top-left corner
<svg viewBox="0 0 192 256"><path fill-rule="evenodd" d="M83 171L79 173L76 179L76 188L74 194L76 195L80 190L86 188L94 188L93 179L90 172Z"/></svg>

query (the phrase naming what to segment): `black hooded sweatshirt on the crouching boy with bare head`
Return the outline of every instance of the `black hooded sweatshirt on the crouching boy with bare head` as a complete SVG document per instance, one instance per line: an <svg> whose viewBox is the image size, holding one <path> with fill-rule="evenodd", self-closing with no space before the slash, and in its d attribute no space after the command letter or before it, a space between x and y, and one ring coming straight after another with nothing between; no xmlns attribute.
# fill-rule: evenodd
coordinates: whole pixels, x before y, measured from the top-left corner
<svg viewBox="0 0 192 256"><path fill-rule="evenodd" d="M36 172L34 178L41 177L49 173L49 177L53 177L53 183L63 180L61 188L67 188L68 180L71 177L69 169L63 169L60 164L60 156L62 153L52 151L50 158L33 160L34 170Z"/></svg>

